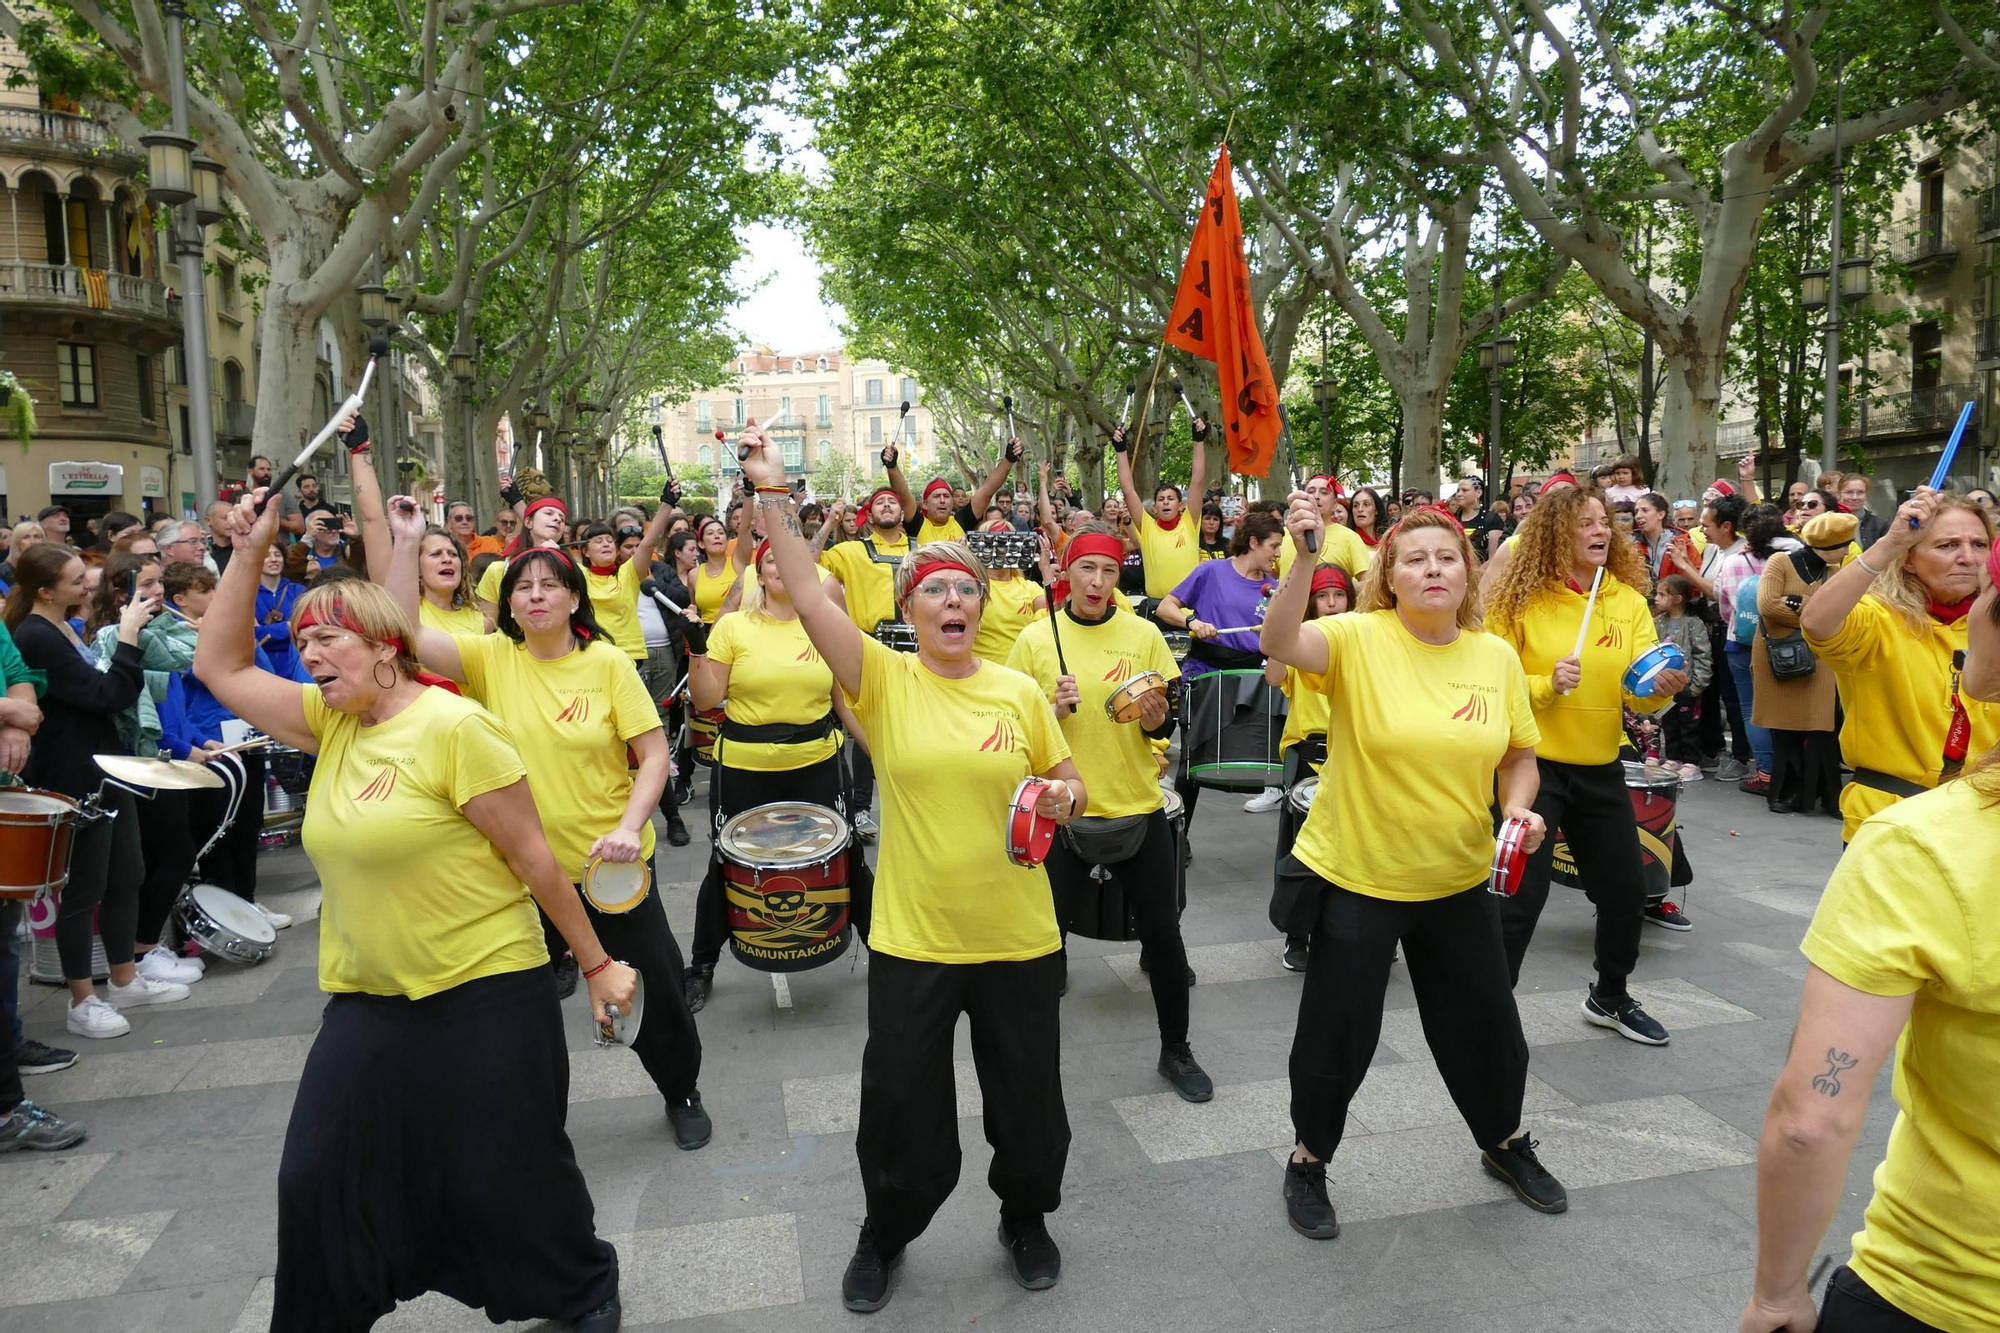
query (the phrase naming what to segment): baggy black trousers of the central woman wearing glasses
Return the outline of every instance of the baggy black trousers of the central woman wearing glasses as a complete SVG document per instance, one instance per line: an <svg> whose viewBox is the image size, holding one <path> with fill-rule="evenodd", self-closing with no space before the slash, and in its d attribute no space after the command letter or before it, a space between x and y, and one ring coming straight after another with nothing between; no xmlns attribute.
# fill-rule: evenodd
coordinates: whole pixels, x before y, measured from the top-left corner
<svg viewBox="0 0 2000 1333"><path fill-rule="evenodd" d="M854 1155L868 1227L884 1255L920 1237L958 1187L958 1015L972 1021L972 1063L994 1149L986 1183L1000 1197L1000 1217L1026 1221L1062 1203L1070 1117L1062 1107L1060 989L1060 953L1028 963L872 955Z"/></svg>

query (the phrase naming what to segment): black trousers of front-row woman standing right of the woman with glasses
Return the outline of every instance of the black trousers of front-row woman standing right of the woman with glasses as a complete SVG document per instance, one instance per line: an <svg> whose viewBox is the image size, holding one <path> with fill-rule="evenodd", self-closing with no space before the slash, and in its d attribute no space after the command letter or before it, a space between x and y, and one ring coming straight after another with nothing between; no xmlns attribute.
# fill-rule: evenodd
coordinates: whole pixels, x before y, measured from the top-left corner
<svg viewBox="0 0 2000 1333"><path fill-rule="evenodd" d="M1298 861L1286 873L1312 877ZM1318 883L1324 885L1320 923L1292 1035L1298 1141L1320 1161L1340 1147L1348 1103L1368 1077L1382 1037L1382 1001L1398 943L1424 1043L1472 1141L1484 1149L1514 1137L1528 1091L1528 1039L1500 949L1498 899L1486 889L1466 889L1426 903L1396 903Z"/></svg>

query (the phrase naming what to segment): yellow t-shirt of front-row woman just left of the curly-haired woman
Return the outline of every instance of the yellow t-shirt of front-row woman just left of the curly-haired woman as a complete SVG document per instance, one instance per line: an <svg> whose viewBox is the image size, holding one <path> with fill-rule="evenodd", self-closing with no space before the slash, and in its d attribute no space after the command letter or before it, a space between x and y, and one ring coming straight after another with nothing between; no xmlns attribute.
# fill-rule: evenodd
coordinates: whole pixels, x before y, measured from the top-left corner
<svg viewBox="0 0 2000 1333"><path fill-rule="evenodd" d="M1482 883L1494 769L1542 739L1520 658L1482 630L1428 644L1394 610L1320 616L1304 632L1326 636L1326 765L1340 781L1314 799L1292 855L1372 899L1428 903Z"/></svg>

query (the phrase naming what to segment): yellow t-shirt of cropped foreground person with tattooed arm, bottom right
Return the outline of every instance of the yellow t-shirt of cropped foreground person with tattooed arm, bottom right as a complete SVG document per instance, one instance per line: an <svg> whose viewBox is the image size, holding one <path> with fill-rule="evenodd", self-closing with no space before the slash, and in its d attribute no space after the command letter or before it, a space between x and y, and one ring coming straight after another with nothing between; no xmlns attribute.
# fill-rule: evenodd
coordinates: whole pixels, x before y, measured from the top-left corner
<svg viewBox="0 0 2000 1333"><path fill-rule="evenodd" d="M1854 1271L1940 1329L2000 1329L1996 861L2000 821L1968 783L1900 801L1854 835L1804 943L1856 991L1916 997Z"/></svg>

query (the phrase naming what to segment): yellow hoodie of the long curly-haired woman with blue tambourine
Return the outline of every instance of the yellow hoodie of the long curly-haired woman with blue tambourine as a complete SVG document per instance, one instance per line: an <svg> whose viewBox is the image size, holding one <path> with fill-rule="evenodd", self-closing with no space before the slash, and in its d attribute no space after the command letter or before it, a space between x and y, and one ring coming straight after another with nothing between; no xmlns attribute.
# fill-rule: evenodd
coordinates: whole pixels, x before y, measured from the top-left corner
<svg viewBox="0 0 2000 1333"><path fill-rule="evenodd" d="M1558 695L1556 662L1576 650L1576 630L1584 622L1584 592L1560 586L1528 604L1520 624L1494 616L1486 628L1514 644L1528 673L1528 703L1542 743L1538 759L1564 765L1608 765L1624 743L1624 709L1664 713L1672 695L1638 699L1624 693L1624 673L1638 654L1660 642L1652 626L1652 606L1638 590L1604 574L1590 636L1584 640L1584 679L1572 695Z"/></svg>

